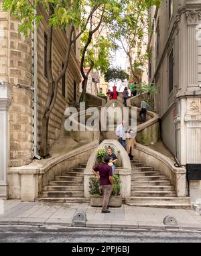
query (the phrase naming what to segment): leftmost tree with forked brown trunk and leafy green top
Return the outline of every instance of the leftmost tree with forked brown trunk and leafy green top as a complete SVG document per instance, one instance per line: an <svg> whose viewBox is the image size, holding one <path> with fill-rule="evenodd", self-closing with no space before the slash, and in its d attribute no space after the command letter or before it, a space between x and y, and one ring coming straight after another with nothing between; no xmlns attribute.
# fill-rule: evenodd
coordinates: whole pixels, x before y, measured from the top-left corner
<svg viewBox="0 0 201 256"><path fill-rule="evenodd" d="M70 51L72 45L84 33L88 21L96 11L97 5L94 1L80 0L36 0L34 5L29 0L4 0L3 9L9 11L17 20L21 21L19 31L25 36L29 36L29 31L33 30L33 22L38 25L44 18L35 12L38 8L43 8L48 13L48 41L47 41L47 73L48 73L48 96L42 118L42 141L40 155L48 157L48 124L50 114L56 102L58 83L68 68ZM89 9L86 13L86 9ZM80 32L72 38L76 27L80 27ZM66 35L66 56L64 68L53 77L52 74L52 36L54 29L67 29Z"/></svg>

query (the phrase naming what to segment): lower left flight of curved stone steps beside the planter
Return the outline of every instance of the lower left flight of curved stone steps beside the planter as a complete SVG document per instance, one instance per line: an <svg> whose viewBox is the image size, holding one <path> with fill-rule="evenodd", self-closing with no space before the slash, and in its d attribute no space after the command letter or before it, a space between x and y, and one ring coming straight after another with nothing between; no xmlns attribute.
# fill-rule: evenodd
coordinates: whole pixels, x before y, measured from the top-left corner
<svg viewBox="0 0 201 256"><path fill-rule="evenodd" d="M84 198L84 169L86 164L79 164L62 172L44 186L36 201L40 202L88 202Z"/></svg>

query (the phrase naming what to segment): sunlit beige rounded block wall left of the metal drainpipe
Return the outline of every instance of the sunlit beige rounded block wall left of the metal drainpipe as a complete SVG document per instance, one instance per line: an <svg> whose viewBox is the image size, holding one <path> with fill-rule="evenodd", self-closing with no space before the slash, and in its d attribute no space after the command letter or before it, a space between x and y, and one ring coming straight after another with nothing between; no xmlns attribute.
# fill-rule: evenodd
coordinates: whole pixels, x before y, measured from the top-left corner
<svg viewBox="0 0 201 256"><path fill-rule="evenodd" d="M11 84L12 104L9 110L10 166L23 166L33 157L33 92L17 88L16 84L31 85L31 35L18 33L19 22L2 11L0 0L0 80Z"/></svg>

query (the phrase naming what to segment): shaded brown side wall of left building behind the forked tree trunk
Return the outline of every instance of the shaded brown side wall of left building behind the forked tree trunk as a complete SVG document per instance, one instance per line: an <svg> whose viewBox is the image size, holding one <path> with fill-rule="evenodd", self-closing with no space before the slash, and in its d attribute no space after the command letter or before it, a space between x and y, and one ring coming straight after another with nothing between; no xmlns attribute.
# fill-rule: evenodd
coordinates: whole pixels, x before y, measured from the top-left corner
<svg viewBox="0 0 201 256"><path fill-rule="evenodd" d="M54 31L53 48L52 48L52 63L54 78L58 72L62 71L62 63L66 56L66 34L64 31ZM41 133L42 133L42 117L48 94L48 80L44 75L44 34L47 33L47 23L45 20L38 27L38 149L40 149ZM78 52L77 52L78 54ZM66 97L62 96L62 80L58 85L58 94L54 108L50 115L48 144L51 146L58 139L61 131L62 118L64 111L70 103L74 101L74 81L76 82L76 99L78 99L80 71L79 63L75 58L72 50L70 63L66 71Z"/></svg>

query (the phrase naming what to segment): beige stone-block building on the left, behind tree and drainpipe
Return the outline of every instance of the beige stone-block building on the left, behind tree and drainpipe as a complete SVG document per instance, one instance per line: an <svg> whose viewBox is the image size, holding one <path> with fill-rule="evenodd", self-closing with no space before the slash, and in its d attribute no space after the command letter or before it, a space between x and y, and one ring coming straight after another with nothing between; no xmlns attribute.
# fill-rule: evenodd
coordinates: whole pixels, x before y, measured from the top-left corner
<svg viewBox="0 0 201 256"><path fill-rule="evenodd" d="M9 182L9 197L20 198L16 194L19 178L13 168L25 166L32 162L34 158L34 122L37 123L37 147L40 151L42 117L48 94L48 79L46 73L46 41L48 29L48 17L44 10L38 9L38 13L44 15L37 28L37 113L34 116L34 90L28 87L34 86L34 33L25 38L19 34L19 21L10 17L7 11L2 9L0 0L0 82L11 90L11 105L7 108L8 134L7 134L7 161L9 170L9 180L5 180L5 185ZM52 72L55 77L64 65L66 56L66 31L57 30L53 34L52 45ZM70 54L70 63L65 76L60 80L58 95L54 109L50 115L48 127L48 144L51 145L60 136L64 111L71 103L78 99L80 76L80 43L77 41ZM19 86L21 85L21 86ZM3 90L3 89L2 89ZM1 99L1 95L0 95ZM36 98L35 98L36 101ZM2 101L3 102L3 101ZM0 120L2 123L3 119ZM2 123L0 127L2 126ZM3 134L3 128L1 129ZM1 150L5 140L1 137ZM1 157L2 154L0 154ZM5 157L4 157L5 159ZM3 163L3 158L0 160ZM1 173L5 168L1 165ZM15 173L14 173L15 172ZM15 176L15 178L13 178ZM0 196L3 193L0 193ZM7 197L7 195L5 196Z"/></svg>

